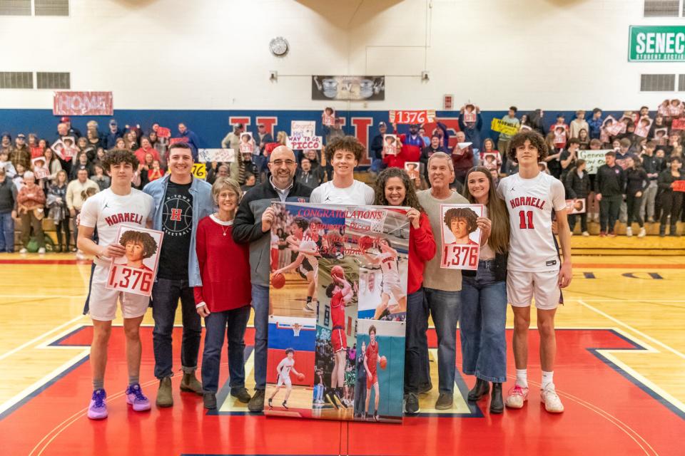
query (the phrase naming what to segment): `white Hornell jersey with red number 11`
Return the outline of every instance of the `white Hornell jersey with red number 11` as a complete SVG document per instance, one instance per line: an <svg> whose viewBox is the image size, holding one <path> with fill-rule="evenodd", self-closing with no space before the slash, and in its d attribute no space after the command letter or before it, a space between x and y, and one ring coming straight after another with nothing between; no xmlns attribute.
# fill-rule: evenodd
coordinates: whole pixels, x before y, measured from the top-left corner
<svg viewBox="0 0 685 456"><path fill-rule="evenodd" d="M509 209L509 263L512 271L553 271L561 266L552 234L552 211L566 209L564 185L540 172L532 179L517 174L499 181L497 193Z"/></svg>

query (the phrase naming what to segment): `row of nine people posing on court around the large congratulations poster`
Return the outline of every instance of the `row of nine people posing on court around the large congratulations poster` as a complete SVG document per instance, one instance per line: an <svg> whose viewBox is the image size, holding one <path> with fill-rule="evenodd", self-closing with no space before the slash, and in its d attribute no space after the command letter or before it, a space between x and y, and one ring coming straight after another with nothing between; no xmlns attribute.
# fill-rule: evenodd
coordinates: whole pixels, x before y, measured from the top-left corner
<svg viewBox="0 0 685 456"><path fill-rule="evenodd" d="M83 204L78 247L95 259L90 315L93 318L91 366L93 393L88 416L106 418L104 377L106 349L121 305L126 334L128 388L126 398L133 410L151 408L140 378L141 338L139 326L148 307L145 296L112 291L105 287L111 258L125 254L114 239L124 217L143 220L139 226L165 233L151 305L155 328L154 375L159 380L156 404L173 405L173 323L179 301L183 316L179 388L203 396L206 408L216 408L220 353L228 338L230 395L248 409L264 407L270 280L271 226L275 222L272 202L318 204L385 205L407 207L410 220L409 270L407 277L407 331L405 361L405 412L419 411L418 395L432 389L427 371L429 316L437 333L439 395L435 408L453 405L457 322L462 338L462 370L475 375L469 400L480 400L492 389L489 409L502 413L504 405L524 406L528 396L527 337L530 308L534 299L541 342L542 402L550 413L564 410L554 383L554 314L560 289L571 281L570 233L564 187L559 180L540 172L538 163L548 154L544 139L523 132L510 141L507 155L519 172L495 185L484 167L472 167L465 175L462 193L450 185L455 180L454 163L445 152L427 160L430 189L418 191L405 170L390 167L375 180L375 188L354 179L354 169L365 147L351 136L330 140L325 157L332 178L312 188L295 180L298 162L293 150L275 147L268 155L268 177L245 195L238 182L218 177L213 185L191 174L193 154L182 142L168 151L170 173L150 182L143 190L131 187L138 159L129 150L110 150L103 166L111 186ZM485 207L477 219L482 247L477 271L440 268L441 204L475 203ZM552 219L557 222L557 242ZM135 223L123 222L134 226ZM93 241L97 232L98 242ZM437 235L437 238L435 237ZM462 277L463 276L463 277ZM514 311L514 361L516 381L503 398L507 380L505 322L507 302ZM255 391L245 388L244 335L254 310ZM196 378L201 341L201 318L205 319L205 344L201 381ZM492 385L492 387L491 387Z"/></svg>

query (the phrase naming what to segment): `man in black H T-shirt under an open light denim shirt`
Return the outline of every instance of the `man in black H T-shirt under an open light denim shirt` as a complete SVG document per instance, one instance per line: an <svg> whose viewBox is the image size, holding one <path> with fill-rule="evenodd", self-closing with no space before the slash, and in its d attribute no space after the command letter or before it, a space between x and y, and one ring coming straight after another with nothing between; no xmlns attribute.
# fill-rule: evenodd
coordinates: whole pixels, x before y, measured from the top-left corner
<svg viewBox="0 0 685 456"><path fill-rule="evenodd" d="M179 142L169 147L168 165L170 175L151 182L143 189L155 200L153 228L164 232L157 279L152 289L155 376L159 379L156 402L159 407L173 405L171 334L179 299L183 315L181 390L203 394L202 384L195 376L202 333L201 318L196 312L193 296L193 286L202 284L195 250L195 230L198 221L214 209L211 185L194 179L191 174L193 155L187 144ZM247 390L244 393L249 398Z"/></svg>

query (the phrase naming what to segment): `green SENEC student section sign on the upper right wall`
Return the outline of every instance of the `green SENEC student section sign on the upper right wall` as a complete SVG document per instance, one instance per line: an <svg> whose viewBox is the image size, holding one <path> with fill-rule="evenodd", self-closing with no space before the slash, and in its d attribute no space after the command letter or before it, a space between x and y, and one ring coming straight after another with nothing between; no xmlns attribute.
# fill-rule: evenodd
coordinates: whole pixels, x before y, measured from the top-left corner
<svg viewBox="0 0 685 456"><path fill-rule="evenodd" d="M685 26L630 26L629 62L685 62Z"/></svg>

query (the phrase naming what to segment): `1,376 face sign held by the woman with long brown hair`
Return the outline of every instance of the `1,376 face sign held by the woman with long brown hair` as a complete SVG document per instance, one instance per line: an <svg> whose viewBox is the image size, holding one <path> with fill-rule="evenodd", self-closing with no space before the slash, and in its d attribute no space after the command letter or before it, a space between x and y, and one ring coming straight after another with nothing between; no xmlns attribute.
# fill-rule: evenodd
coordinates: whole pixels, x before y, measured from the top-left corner
<svg viewBox="0 0 685 456"><path fill-rule="evenodd" d="M440 204L442 214L442 252L440 267L478 269L480 237L476 220L483 215L482 204Z"/></svg>

